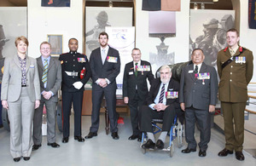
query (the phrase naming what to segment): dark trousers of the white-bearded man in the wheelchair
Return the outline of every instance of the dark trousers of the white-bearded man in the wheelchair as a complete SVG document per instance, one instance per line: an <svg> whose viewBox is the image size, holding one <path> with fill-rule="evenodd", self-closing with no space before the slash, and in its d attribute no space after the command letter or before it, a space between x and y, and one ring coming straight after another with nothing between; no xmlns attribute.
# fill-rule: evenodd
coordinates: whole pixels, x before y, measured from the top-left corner
<svg viewBox="0 0 256 166"><path fill-rule="evenodd" d="M153 133L151 121L154 118L163 119L162 131L167 131L167 132L170 131L173 120L177 113L173 105L167 106L166 110L161 112L156 112L155 110L152 110L149 106L142 106L140 112L142 115L141 130L143 132L150 132L150 133Z"/></svg>

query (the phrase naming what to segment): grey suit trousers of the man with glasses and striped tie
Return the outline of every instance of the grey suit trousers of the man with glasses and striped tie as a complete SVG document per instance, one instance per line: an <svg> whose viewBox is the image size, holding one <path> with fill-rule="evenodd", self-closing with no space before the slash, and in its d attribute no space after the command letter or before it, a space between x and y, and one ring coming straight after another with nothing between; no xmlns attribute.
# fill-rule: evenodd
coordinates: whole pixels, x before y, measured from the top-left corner
<svg viewBox="0 0 256 166"><path fill-rule="evenodd" d="M56 116L56 102L51 100L43 99L41 96L41 102L38 109L35 110L34 114L34 127L33 127L33 141L34 144L39 145L42 143L42 120L43 120L43 109L44 105L46 107L46 117L47 117L47 141L48 143L55 142L55 116Z"/></svg>

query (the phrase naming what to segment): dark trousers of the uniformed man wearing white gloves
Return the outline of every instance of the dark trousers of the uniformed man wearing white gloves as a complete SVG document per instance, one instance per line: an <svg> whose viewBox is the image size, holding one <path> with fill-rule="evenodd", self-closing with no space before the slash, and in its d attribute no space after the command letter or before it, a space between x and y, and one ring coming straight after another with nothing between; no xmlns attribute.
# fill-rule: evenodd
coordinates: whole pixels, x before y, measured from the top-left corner
<svg viewBox="0 0 256 166"><path fill-rule="evenodd" d="M66 92L62 91L62 116L63 137L69 137L71 107L73 103L74 112L74 136L81 136L81 115L84 91Z"/></svg>

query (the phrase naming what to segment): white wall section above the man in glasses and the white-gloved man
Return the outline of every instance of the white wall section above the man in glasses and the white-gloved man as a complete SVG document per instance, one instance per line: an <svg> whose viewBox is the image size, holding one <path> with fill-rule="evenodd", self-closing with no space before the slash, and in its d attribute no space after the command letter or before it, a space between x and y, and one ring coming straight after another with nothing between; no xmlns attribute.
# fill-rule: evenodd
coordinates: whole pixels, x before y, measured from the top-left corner
<svg viewBox="0 0 256 166"><path fill-rule="evenodd" d="M28 55L40 55L40 43L47 40L47 34L63 35L63 53L68 52L68 40L79 40L82 53L83 39L83 0L71 0L70 8L41 7L41 1L27 0L28 9Z"/></svg>

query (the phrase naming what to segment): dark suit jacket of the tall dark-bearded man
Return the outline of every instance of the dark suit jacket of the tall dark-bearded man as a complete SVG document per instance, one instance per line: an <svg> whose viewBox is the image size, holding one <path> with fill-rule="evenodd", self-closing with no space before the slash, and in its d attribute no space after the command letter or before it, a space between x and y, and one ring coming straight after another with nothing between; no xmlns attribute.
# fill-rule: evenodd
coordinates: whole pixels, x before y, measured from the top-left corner
<svg viewBox="0 0 256 166"><path fill-rule="evenodd" d="M120 72L120 57L116 49L109 47L108 56L116 57L117 63L108 62L107 58L102 65L101 48L94 49L90 54L90 68L92 72L92 81L95 84L98 78L108 78L110 84L116 84L115 78Z"/></svg>

